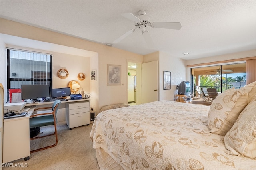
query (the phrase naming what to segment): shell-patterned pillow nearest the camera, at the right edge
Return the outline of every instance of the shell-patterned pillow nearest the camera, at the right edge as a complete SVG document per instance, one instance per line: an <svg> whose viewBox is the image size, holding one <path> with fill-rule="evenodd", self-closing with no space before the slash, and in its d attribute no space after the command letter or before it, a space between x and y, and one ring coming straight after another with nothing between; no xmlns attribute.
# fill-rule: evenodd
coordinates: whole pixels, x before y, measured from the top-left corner
<svg viewBox="0 0 256 170"><path fill-rule="evenodd" d="M241 112L234 126L225 135L227 154L256 158L256 100Z"/></svg>

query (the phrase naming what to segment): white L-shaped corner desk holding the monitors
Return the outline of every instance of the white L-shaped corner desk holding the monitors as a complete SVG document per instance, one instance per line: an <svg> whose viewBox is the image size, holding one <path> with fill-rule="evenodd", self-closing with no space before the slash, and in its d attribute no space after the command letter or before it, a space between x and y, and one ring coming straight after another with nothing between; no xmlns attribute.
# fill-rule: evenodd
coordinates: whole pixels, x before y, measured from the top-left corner
<svg viewBox="0 0 256 170"><path fill-rule="evenodd" d="M74 103L88 103L87 105L90 108L89 99L80 99L80 100L68 100L61 101L66 107ZM44 107L54 102L35 102L27 103L25 108L29 107L28 115L24 117L16 117L10 119L4 119L3 125L3 163L11 162L20 158L28 160L30 156L30 136L29 136L29 118L34 112L36 107ZM68 113L66 113L68 114ZM88 119L88 121L87 121ZM90 112L88 117L86 117L86 123L90 124ZM81 124L80 124L81 125Z"/></svg>

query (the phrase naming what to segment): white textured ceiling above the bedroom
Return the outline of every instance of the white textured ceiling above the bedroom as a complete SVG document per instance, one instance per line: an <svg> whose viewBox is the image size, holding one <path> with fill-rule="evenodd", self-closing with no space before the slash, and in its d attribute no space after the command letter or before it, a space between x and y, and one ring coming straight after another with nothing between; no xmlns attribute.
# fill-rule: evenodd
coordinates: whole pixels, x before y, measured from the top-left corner
<svg viewBox="0 0 256 170"><path fill-rule="evenodd" d="M149 27L154 48L138 29L114 47L142 55L165 51L183 59L256 49L256 1L0 1L1 18L101 44L134 28L122 13L138 16L142 9L151 22L180 22L182 28Z"/></svg>

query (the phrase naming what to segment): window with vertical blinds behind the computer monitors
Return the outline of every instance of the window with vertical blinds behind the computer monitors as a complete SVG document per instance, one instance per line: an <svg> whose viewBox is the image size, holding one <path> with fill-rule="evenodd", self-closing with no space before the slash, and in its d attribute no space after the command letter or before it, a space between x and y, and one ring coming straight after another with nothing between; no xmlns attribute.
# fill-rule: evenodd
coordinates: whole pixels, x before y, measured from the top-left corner
<svg viewBox="0 0 256 170"><path fill-rule="evenodd" d="M21 85L52 88L52 55L7 49L7 89L19 89Z"/></svg>

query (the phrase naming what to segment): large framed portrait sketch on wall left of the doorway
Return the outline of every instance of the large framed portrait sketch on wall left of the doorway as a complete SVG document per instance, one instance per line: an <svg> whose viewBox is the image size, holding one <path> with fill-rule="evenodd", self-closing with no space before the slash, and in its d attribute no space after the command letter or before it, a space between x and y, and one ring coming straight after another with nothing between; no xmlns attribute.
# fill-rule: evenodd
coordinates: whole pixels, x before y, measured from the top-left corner
<svg viewBox="0 0 256 170"><path fill-rule="evenodd" d="M121 85L121 65L107 64L107 85Z"/></svg>

